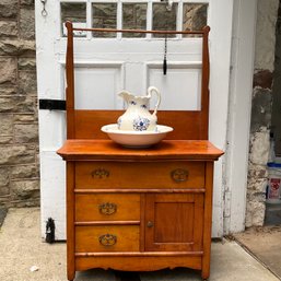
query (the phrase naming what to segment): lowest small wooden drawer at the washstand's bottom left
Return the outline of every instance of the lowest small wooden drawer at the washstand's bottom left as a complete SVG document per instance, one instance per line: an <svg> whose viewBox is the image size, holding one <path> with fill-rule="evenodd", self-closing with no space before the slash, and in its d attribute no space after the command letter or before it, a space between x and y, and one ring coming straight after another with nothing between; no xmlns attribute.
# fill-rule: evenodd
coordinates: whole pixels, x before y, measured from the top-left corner
<svg viewBox="0 0 281 281"><path fill-rule="evenodd" d="M139 251L139 225L77 226L75 251Z"/></svg>

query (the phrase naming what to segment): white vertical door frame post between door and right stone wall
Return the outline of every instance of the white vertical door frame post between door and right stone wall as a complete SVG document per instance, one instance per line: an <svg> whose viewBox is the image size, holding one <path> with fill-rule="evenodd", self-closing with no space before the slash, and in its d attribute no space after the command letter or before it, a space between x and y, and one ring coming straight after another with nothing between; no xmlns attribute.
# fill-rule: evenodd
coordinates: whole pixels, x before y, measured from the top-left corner
<svg viewBox="0 0 281 281"><path fill-rule="evenodd" d="M257 0L234 0L224 164L224 234L245 230Z"/></svg>

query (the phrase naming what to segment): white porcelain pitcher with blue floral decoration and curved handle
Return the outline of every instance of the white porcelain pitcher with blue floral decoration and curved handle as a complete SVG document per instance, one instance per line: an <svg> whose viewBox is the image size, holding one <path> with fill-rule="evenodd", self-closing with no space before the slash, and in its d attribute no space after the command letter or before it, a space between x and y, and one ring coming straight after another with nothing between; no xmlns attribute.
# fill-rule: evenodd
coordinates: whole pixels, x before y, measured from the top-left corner
<svg viewBox="0 0 281 281"><path fill-rule="evenodd" d="M151 114L149 112L149 102L153 93L156 94L157 102L153 114ZM121 115L117 120L119 130L156 130L156 113L161 102L161 95L155 86L150 86L148 89L148 94L144 96L136 96L128 91L121 91L118 95L121 96L128 105L126 113Z"/></svg>

